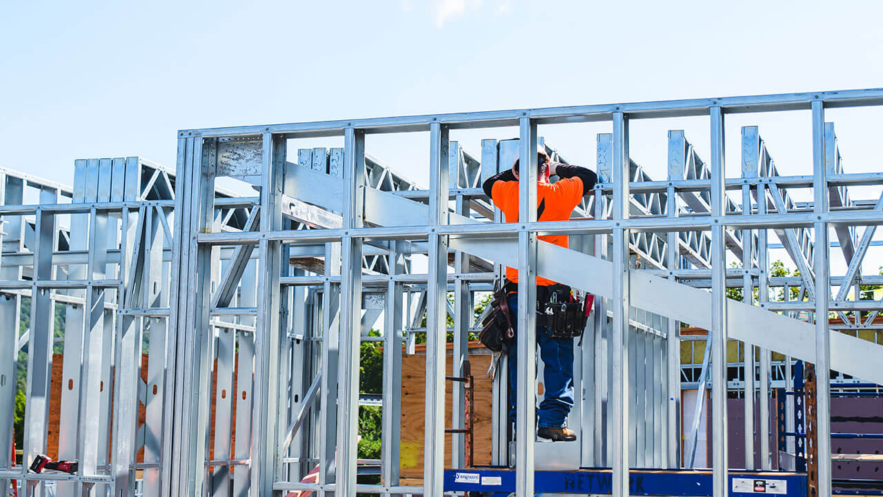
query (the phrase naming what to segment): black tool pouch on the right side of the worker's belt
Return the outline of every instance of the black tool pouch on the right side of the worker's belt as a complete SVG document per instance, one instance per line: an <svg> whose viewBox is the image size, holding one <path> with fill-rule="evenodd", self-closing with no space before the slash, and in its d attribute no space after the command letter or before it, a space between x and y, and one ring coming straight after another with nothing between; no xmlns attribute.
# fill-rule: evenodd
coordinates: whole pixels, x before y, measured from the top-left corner
<svg viewBox="0 0 883 497"><path fill-rule="evenodd" d="M550 338L570 340L583 336L585 323L592 312L592 294L587 298L567 285L537 287L537 326L543 326Z"/></svg>

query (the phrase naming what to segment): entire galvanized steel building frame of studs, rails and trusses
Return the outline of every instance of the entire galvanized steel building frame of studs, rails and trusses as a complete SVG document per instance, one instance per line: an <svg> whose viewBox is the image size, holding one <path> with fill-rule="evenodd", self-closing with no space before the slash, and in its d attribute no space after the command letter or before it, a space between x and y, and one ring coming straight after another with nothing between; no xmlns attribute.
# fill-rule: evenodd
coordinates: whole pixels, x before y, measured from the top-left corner
<svg viewBox="0 0 883 497"><path fill-rule="evenodd" d="M883 347L839 333L871 327L881 307L847 296L859 282L879 282L861 274L861 263L883 223L883 195L856 200L848 189L883 185L883 173L843 172L834 125L825 120L826 109L881 104L876 88L208 128L179 132L174 174L138 157L90 159L77 161L69 189L4 171L0 350L17 356L26 345L27 407L26 463L0 463L0 484L16 481L26 494L42 494L52 481L63 495L441 495L445 467L464 464L462 435L453 436L450 458L444 454L445 411L455 428L463 427L464 412L462 386L450 403L445 398L446 336L454 337L453 374L462 375L477 326L475 294L510 265L524 275L519 330L535 329L525 302L537 276L601 297L577 355L581 395L569 421L582 434L572 446L579 465L612 468L615 495L628 495L630 469L688 466L679 393L686 337L679 330L688 323L709 331L700 387L711 387L715 413L711 489L728 495L728 341L743 342L746 412L758 403L762 413L759 426L746 422L748 433L769 429L771 351L786 356L786 367L801 359L817 371L883 384ZM728 114L797 110L810 114L811 173L779 175L758 127L746 126L742 176L725 177ZM668 135L667 180L652 180L630 157L630 121L697 116L709 123L707 162L679 130ZM536 204L536 148L552 149L538 126L580 122L612 127L597 137L601 181L569 221L538 222L527 208ZM449 139L458 129L492 127L517 127L518 139L482 141L480 160ZM428 135L428 189L366 154L366 136L392 133ZM343 148L290 149L301 138L342 139ZM515 157L528 179L520 191L524 215L502 223L479 184ZM216 187L225 177L251 184L256 195ZM38 203L26 202L27 187L39 192ZM810 187L811 203L788 195ZM865 226L860 241L857 226ZM842 276L830 274L829 228L849 261ZM769 230L799 278L767 274ZM538 240L549 233L570 235L571 248ZM728 268L728 260L742 266ZM727 298L736 287L744 302ZM771 298L780 287L785 298ZM796 301L789 287L800 288ZM23 298L31 314L19 334ZM58 455L79 459L80 469L37 475L26 466L47 448L57 305L64 305L60 405L71 414L59 426ZM798 311L825 318L807 323L795 318ZM842 325L828 324L832 311ZM368 336L381 316L381 337ZM426 337L426 451L422 485L405 486L401 358L418 334ZM358 407L366 402L358 391L359 344L367 340L384 345L379 462L357 457ZM519 333L518 433L535 429L535 349L532 333ZM11 444L17 363L4 361L0 371L0 449ZM571 448L518 437L508 461L504 364L501 370L494 463L514 463L517 494L529 495L550 448ZM829 388L822 375L820 494L830 493L830 464L821 463L830 460ZM751 451L764 455L760 468L751 457L746 470L771 468L775 455L761 440ZM360 467L378 463L380 484L357 482ZM301 483L313 467L317 480Z"/></svg>

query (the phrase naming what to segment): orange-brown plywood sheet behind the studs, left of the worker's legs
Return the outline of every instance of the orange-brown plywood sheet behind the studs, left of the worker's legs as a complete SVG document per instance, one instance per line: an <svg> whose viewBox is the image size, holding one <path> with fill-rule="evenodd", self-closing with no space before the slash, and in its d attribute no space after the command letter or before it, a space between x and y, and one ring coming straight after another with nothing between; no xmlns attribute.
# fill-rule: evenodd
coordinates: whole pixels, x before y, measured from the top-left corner
<svg viewBox="0 0 883 497"><path fill-rule="evenodd" d="M493 413L492 382L485 372L490 365L487 354L469 356L472 377L475 380L474 409L474 461L473 464L491 463L491 416ZM452 356L448 356L447 374L451 374ZM451 427L451 392L453 382L446 382L445 426ZM423 477L423 442L426 421L426 356L416 354L402 357L402 433L401 478ZM450 468L450 441L453 435L445 435L445 467ZM459 435L462 436L462 435Z"/></svg>

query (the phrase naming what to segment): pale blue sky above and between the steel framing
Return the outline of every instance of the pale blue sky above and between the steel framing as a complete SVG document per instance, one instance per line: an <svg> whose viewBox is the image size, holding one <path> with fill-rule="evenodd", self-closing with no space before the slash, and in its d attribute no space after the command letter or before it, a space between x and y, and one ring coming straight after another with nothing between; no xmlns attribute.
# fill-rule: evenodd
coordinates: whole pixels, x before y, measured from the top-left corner
<svg viewBox="0 0 883 497"><path fill-rule="evenodd" d="M0 166L70 184L75 158L139 155L173 168L176 131L191 127L875 88L879 19L876 1L7 2ZM881 115L827 112L848 172L881 169ZM758 125L782 173L809 173L809 122L808 111L728 118L728 172L739 173L740 126ZM707 127L634 122L632 157L664 179L666 131L686 129L707 160ZM609 129L540 134L594 167L595 134ZM452 138L479 157L481 138L516 135ZM427 149L421 134L367 141L421 182ZM833 257L835 272L841 262Z"/></svg>

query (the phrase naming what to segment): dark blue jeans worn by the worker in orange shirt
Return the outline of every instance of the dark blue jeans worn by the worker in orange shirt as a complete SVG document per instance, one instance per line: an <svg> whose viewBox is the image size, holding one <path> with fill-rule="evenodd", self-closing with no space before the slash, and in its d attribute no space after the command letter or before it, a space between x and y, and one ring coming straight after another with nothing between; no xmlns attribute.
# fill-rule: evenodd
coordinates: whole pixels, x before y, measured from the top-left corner
<svg viewBox="0 0 883 497"><path fill-rule="evenodd" d="M518 294L509 294L509 309L512 323L516 328L518 316ZM513 341L509 347L509 423L515 423L517 399L517 350ZM562 428L567 425L567 415L573 407L573 339L555 339L546 334L545 326L537 326L537 343L540 344L540 358L543 360L543 401L537 416L540 428Z"/></svg>

